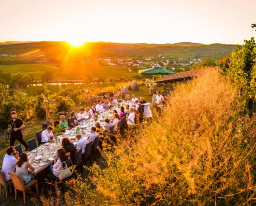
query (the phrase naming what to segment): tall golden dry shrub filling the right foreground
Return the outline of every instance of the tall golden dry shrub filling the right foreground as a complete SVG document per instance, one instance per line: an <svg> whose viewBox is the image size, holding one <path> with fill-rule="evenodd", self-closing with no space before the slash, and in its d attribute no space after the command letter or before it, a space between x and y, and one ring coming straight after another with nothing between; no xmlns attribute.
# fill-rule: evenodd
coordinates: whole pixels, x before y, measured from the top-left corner
<svg viewBox="0 0 256 206"><path fill-rule="evenodd" d="M256 127L243 108L215 71L178 85L161 116L103 151L93 187L73 181L66 204L255 205Z"/></svg>

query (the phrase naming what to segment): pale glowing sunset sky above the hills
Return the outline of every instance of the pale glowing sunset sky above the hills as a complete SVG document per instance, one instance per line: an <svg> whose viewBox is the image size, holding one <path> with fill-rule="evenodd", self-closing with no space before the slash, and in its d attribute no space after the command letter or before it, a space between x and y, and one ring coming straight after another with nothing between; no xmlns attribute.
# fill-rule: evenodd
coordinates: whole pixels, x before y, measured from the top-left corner
<svg viewBox="0 0 256 206"><path fill-rule="evenodd" d="M240 44L255 0L0 0L0 41Z"/></svg>

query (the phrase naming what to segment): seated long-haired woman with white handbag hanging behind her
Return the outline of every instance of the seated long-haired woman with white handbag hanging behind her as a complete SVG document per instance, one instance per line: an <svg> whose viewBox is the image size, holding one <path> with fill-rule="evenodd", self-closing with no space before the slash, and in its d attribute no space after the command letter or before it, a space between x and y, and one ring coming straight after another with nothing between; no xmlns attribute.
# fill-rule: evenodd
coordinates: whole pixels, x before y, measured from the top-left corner
<svg viewBox="0 0 256 206"><path fill-rule="evenodd" d="M62 170L62 163L69 158L68 153L64 148L58 148L57 157L54 157L54 163L49 166L50 178L58 178L59 171Z"/></svg>

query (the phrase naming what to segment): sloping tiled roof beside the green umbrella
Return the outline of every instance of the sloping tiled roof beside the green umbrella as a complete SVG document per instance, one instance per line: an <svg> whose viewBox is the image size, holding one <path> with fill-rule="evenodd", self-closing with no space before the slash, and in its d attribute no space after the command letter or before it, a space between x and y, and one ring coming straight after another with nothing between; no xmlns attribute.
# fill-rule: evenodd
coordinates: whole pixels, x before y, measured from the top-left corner
<svg viewBox="0 0 256 206"><path fill-rule="evenodd" d="M187 72L180 72L178 74L170 74L170 75L166 75L162 79L157 80L156 83L175 82L175 81L182 81L186 79L192 79L193 77L197 77L203 72L205 72L205 70L191 70Z"/></svg>

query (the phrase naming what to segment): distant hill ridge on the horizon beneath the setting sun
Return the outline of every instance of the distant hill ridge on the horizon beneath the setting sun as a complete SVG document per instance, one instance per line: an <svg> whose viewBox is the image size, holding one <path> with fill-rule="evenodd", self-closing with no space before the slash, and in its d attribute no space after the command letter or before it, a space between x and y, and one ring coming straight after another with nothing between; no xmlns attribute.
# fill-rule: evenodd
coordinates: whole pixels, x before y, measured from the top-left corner
<svg viewBox="0 0 256 206"><path fill-rule="evenodd" d="M124 58L124 57L147 57L163 55L170 58L193 59L203 58L216 59L228 55L235 50L236 45L228 44L201 44L192 42L179 42L173 44L147 44L147 43L112 43L112 42L87 42L79 49L73 49L67 42L8 42L0 44L0 55L32 54L44 55L51 59L64 57L72 52L82 57L90 58ZM29 56L27 55L27 56Z"/></svg>

